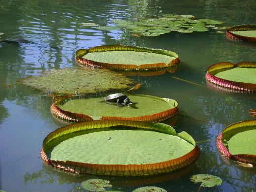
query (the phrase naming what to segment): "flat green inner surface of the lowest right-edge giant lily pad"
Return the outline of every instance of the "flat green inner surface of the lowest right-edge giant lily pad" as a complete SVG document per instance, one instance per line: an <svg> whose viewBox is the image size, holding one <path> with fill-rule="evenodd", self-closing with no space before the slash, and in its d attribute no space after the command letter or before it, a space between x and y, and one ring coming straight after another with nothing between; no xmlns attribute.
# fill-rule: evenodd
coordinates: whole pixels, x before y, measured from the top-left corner
<svg viewBox="0 0 256 192"><path fill-rule="evenodd" d="M228 140L227 146L232 155L256 155L256 129L236 133Z"/></svg>

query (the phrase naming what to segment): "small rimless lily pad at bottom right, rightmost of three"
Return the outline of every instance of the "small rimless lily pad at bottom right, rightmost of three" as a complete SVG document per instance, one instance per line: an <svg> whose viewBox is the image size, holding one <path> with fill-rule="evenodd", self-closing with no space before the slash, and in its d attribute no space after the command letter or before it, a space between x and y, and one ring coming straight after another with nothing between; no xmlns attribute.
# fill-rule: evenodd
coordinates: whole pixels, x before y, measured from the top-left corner
<svg viewBox="0 0 256 192"><path fill-rule="evenodd" d="M190 180L193 183L201 183L201 187L214 187L222 184L222 179L214 175L197 174L192 175Z"/></svg>

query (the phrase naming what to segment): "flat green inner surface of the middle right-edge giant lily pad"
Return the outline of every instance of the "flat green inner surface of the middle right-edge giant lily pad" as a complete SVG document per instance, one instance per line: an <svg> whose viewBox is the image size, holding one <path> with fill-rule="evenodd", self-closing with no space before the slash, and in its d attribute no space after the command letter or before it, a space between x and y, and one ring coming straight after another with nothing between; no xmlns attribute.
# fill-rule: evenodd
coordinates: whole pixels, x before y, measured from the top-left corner
<svg viewBox="0 0 256 192"><path fill-rule="evenodd" d="M256 83L256 68L235 67L215 74L229 81Z"/></svg>

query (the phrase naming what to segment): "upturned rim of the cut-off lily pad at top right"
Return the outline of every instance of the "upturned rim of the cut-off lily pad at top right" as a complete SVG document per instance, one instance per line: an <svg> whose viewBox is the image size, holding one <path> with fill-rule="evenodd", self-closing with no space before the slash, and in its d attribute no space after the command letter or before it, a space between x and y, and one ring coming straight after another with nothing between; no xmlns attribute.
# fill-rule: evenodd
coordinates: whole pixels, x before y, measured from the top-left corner
<svg viewBox="0 0 256 192"><path fill-rule="evenodd" d="M226 37L227 37L227 39L230 39L230 40L244 40L244 41L256 42L256 37L249 37L249 36L243 36L243 35L238 35L238 34L232 33L235 31L250 31L250 30L255 31L256 25L233 26L226 30Z"/></svg>

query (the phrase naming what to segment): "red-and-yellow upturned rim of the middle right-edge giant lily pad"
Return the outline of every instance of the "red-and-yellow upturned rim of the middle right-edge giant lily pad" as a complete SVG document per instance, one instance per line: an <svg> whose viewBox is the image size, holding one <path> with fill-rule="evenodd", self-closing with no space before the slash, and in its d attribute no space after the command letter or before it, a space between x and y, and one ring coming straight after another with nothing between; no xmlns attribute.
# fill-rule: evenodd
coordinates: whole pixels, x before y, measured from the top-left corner
<svg viewBox="0 0 256 192"><path fill-rule="evenodd" d="M228 70L235 67L256 68L256 62L240 62L238 64L222 62L222 63L213 64L207 68L205 79L212 84L218 85L220 87L231 90L233 92L255 93L256 92L255 83L229 81L229 80L222 79L215 76L215 74L220 71Z"/></svg>

